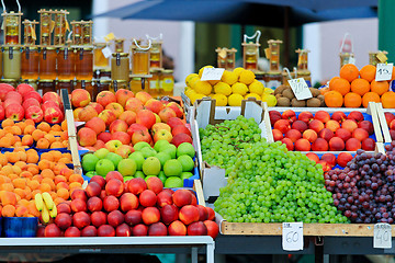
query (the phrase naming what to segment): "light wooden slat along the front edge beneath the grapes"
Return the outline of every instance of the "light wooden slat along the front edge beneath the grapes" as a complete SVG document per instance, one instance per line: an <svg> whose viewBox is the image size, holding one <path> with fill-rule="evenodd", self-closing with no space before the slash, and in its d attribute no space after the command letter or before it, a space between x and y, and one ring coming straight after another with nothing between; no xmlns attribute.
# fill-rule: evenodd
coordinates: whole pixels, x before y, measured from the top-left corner
<svg viewBox="0 0 395 263"><path fill-rule="evenodd" d="M222 221L223 235L281 236L282 224ZM321 237L373 237L371 224L303 224L304 236ZM395 237L395 231L392 231Z"/></svg>

